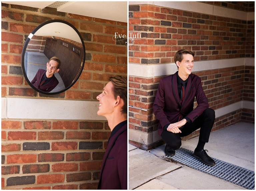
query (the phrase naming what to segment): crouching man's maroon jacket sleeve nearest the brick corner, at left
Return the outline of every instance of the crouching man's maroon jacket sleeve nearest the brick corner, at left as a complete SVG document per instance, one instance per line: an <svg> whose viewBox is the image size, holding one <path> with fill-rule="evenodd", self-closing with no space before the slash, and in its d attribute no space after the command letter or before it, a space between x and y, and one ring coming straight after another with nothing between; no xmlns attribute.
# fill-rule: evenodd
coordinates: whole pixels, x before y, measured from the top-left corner
<svg viewBox="0 0 256 191"><path fill-rule="evenodd" d="M164 110L163 110L164 107L165 107L165 91L164 91L164 84L161 79L159 82L155 101L153 104L153 111L156 119L159 120L159 123L161 124L162 128L165 125L170 124L169 120L167 119L167 116L164 113Z"/></svg>

